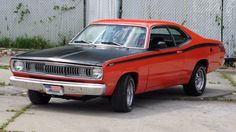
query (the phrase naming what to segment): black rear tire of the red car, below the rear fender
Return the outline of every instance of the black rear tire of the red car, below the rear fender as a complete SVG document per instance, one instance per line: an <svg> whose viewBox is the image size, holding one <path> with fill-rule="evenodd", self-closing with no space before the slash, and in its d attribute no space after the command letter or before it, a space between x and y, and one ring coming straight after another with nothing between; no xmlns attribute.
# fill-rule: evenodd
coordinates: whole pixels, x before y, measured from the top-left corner
<svg viewBox="0 0 236 132"><path fill-rule="evenodd" d="M196 86L198 83L195 82L198 72L201 72L203 75L203 81L201 85ZM198 75L199 76L199 75ZM200 96L204 93L206 87L206 66L203 64L198 64L192 73L191 79L188 84L184 85L184 92L189 96ZM201 87L200 87L201 86Z"/></svg>

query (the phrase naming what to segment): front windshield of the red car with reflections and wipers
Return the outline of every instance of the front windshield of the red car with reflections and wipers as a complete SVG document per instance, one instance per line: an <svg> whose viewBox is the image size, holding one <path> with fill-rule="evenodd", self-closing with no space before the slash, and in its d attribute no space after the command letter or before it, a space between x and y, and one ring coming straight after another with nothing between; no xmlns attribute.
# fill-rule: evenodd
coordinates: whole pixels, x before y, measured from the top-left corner
<svg viewBox="0 0 236 132"><path fill-rule="evenodd" d="M146 28L127 25L91 25L72 40L72 43L105 44L144 48Z"/></svg>

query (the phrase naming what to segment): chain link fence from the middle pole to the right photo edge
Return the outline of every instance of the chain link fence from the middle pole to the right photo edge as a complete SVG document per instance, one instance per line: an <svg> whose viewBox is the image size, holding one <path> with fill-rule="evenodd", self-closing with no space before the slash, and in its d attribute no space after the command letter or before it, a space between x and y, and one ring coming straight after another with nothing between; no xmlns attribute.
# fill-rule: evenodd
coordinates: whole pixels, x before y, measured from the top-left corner
<svg viewBox="0 0 236 132"><path fill-rule="evenodd" d="M177 22L223 40L226 58L236 57L236 0L123 0L122 18Z"/></svg>

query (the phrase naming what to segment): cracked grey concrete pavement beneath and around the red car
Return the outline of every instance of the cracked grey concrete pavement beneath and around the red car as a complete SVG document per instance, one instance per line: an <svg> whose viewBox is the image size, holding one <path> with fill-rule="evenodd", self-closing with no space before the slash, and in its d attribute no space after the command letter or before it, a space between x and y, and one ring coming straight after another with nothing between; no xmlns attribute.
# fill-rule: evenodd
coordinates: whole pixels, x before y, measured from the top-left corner
<svg viewBox="0 0 236 132"><path fill-rule="evenodd" d="M104 98L87 102L52 99L49 105L31 106L24 90L4 86L0 87L0 126L23 132L234 132L235 91L236 87L214 72L208 75L201 97L185 96L181 87L146 93L136 98L132 112L124 114L113 112Z"/></svg>

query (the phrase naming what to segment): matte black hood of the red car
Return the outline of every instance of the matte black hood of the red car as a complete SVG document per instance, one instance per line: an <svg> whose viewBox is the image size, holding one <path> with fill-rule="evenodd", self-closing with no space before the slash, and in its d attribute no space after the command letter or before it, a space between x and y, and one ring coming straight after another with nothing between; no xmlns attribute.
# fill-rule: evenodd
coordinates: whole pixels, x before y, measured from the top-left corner
<svg viewBox="0 0 236 132"><path fill-rule="evenodd" d="M143 52L143 49L123 47L65 46L23 53L13 58L101 66L105 61Z"/></svg>

